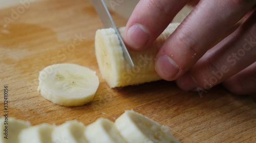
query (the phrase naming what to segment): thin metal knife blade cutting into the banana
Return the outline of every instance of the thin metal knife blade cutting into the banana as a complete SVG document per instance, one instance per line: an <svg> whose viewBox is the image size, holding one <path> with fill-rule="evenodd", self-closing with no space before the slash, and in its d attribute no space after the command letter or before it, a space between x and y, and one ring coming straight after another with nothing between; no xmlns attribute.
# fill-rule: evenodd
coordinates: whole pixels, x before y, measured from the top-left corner
<svg viewBox="0 0 256 143"><path fill-rule="evenodd" d="M131 65L134 67L134 64L133 64L133 60L126 48L126 46L124 45L124 42L121 38L121 35L119 33L119 31L117 30L117 27L116 27L116 24L114 23L114 20L109 12L109 9L106 7L106 4L104 2L104 0L92 0L92 3L94 5L94 8L95 10L97 11L103 25L106 27L106 28L114 28L116 34L117 34L117 37L120 41L120 46L122 48L122 51L123 51L123 56L124 56L124 59Z"/></svg>

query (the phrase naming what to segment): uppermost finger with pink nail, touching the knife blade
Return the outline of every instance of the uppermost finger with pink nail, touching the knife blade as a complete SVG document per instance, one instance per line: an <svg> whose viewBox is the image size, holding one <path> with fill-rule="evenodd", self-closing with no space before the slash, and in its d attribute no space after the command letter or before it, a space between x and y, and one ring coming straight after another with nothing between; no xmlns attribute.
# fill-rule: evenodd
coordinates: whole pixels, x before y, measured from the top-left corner
<svg viewBox="0 0 256 143"><path fill-rule="evenodd" d="M175 15L190 0L141 0L135 7L124 32L124 42L134 50L151 45Z"/></svg>

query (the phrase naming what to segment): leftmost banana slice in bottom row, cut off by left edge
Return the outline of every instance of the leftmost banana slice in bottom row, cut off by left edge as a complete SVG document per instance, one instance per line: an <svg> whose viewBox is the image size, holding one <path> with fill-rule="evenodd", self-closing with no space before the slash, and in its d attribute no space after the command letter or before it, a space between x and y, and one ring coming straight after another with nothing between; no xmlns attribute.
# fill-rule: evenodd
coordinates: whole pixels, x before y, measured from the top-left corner
<svg viewBox="0 0 256 143"><path fill-rule="evenodd" d="M2 143L19 143L19 133L31 126L29 122L15 118L9 118L8 121L5 121L4 118L0 119L0 142Z"/></svg>

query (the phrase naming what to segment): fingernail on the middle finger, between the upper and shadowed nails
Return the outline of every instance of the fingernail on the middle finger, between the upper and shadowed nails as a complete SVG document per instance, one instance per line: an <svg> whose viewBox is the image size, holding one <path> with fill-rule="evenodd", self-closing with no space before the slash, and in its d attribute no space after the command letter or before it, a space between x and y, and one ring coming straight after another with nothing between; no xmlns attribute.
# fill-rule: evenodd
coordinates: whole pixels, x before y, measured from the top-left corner
<svg viewBox="0 0 256 143"><path fill-rule="evenodd" d="M160 56L156 61L156 71L165 80L172 80L179 72L179 66L167 55Z"/></svg>

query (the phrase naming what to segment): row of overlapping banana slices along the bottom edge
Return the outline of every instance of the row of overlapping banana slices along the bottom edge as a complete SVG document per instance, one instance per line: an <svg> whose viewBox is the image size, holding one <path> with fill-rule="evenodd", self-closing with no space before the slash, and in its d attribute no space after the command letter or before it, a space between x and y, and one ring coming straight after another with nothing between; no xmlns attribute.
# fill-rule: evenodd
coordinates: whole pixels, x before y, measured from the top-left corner
<svg viewBox="0 0 256 143"><path fill-rule="evenodd" d="M133 110L125 111L115 123L99 118L87 127L77 121L59 126L31 126L29 122L10 118L6 133L4 121L0 119L0 143L180 142L169 132L168 127Z"/></svg>

